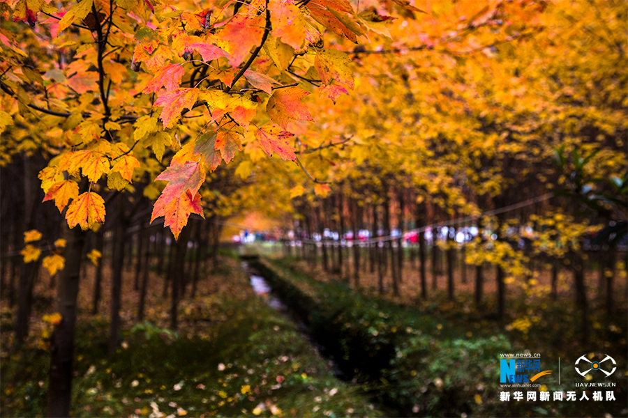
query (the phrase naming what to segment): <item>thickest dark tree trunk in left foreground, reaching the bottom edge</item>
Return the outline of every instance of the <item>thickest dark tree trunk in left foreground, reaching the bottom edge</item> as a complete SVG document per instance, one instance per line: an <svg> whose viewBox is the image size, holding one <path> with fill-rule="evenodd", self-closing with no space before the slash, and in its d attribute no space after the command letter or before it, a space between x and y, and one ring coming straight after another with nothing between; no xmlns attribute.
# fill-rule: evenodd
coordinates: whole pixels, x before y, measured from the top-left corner
<svg viewBox="0 0 628 418"><path fill-rule="evenodd" d="M61 323L54 327L50 346L50 372L47 394L48 417L69 417L72 399L72 373L76 300L79 291L81 255L85 233L80 228L68 229L63 221L66 236L64 256L66 265L59 277L55 310L61 314Z"/></svg>

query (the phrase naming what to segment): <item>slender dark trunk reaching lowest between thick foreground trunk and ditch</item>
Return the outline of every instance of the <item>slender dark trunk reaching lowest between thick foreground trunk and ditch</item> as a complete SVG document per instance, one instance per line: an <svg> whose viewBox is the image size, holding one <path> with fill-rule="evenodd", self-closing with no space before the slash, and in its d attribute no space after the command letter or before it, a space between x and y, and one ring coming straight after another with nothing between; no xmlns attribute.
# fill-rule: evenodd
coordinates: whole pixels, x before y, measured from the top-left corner
<svg viewBox="0 0 628 418"><path fill-rule="evenodd" d="M114 233L114 247L112 257L112 286L111 286L111 312L109 332L109 355L113 355L118 347L118 334L120 330L120 307L122 293L122 269L124 268L124 241L126 240L126 219L124 215L124 194L118 194L118 213L116 230Z"/></svg>

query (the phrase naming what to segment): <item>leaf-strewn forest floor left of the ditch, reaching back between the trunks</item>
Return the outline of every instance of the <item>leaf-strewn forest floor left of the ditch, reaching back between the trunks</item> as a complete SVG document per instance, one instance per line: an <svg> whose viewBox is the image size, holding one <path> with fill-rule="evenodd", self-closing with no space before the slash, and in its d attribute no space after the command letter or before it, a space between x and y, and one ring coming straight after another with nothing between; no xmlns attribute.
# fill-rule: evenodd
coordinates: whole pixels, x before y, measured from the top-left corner
<svg viewBox="0 0 628 418"><path fill-rule="evenodd" d="M103 300L92 316L94 266L81 279L71 414L80 417L381 416L359 387L338 380L331 364L281 311L253 293L239 261L219 258L195 298L179 306L179 330L169 323L163 279L151 272L146 322L137 325L138 291L124 271L121 343L107 355L110 268L103 266ZM46 272L34 289L30 339L17 352L13 315L0 311L3 417L45 415L50 353L43 315L54 311Z"/></svg>

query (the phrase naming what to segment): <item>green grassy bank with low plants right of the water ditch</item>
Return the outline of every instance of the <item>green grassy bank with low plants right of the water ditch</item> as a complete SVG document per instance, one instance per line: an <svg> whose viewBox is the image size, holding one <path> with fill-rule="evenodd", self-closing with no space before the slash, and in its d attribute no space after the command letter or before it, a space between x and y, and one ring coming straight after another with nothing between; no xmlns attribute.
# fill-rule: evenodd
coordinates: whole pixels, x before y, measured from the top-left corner
<svg viewBox="0 0 628 418"><path fill-rule="evenodd" d="M504 327L492 314L472 309L470 295L462 295L456 302L439 295L429 302L403 304L354 292L342 281L317 281L294 268L292 259L274 261L271 270L279 272L273 280L278 292L284 293L297 311L307 311L311 327L338 341L338 362L345 360L345 369L364 378L371 385L371 394L381 403L396 405L401 415L578 417L628 413L625 335L602 330L592 346L579 345L574 336L574 312L564 301L552 304L540 295L530 295L509 305L515 315L525 312L530 303L546 305L546 314L523 333ZM596 376L591 381L614 383L615 387L601 389L613 390L616 401L541 402L539 396L535 402L500 401L502 390L516 391L499 386L500 354L525 352L541 353L542 370L554 373L537 381L544 387L521 389L524 396L529 390L576 390L579 399L583 388L576 384L589 380L576 374L573 363L582 354L599 359L610 354L618 361L618 369L606 380ZM371 359L364 353L372 355ZM560 383L558 357L562 358Z"/></svg>

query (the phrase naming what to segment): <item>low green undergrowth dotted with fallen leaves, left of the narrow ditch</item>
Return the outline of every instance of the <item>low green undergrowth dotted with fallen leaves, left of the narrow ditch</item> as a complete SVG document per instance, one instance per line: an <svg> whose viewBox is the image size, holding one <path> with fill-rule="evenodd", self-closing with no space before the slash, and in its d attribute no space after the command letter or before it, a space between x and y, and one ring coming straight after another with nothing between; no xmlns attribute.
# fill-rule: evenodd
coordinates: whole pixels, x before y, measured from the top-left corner
<svg viewBox="0 0 628 418"><path fill-rule="evenodd" d="M107 356L107 322L79 320L72 415L382 415L360 387L334 376L292 320L253 295L244 274L233 276L243 294L197 301L214 305L202 335L142 323ZM3 359L3 417L45 415L49 364L34 347Z"/></svg>

